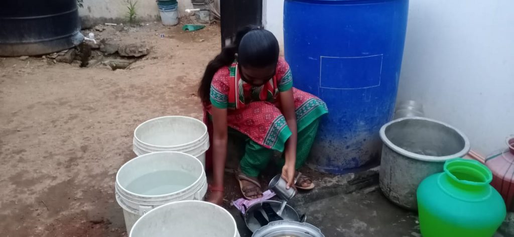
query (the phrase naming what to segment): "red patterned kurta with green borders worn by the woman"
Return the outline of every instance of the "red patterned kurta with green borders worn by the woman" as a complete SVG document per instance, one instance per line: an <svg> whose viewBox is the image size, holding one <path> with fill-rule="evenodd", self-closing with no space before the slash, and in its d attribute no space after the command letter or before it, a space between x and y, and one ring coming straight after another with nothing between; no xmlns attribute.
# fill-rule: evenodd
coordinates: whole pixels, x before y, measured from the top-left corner
<svg viewBox="0 0 514 237"><path fill-rule="evenodd" d="M241 80L237 63L219 69L211 83L212 106L228 109L228 126L242 132L263 147L283 151L291 135L280 110L280 92L293 90L298 131L328 112L326 104L314 95L292 88L292 75L284 58L277 64L276 75L263 86L253 87ZM207 119L206 123L210 124ZM212 134L211 134L212 135Z"/></svg>

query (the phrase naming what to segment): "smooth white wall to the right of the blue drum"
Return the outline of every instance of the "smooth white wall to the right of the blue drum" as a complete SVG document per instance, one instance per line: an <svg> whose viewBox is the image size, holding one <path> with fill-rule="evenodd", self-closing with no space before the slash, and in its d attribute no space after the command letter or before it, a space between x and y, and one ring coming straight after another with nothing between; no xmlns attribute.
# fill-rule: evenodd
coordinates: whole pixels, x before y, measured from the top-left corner
<svg viewBox="0 0 514 237"><path fill-rule="evenodd" d="M411 1L398 101L463 130L487 155L514 133L514 1Z"/></svg>

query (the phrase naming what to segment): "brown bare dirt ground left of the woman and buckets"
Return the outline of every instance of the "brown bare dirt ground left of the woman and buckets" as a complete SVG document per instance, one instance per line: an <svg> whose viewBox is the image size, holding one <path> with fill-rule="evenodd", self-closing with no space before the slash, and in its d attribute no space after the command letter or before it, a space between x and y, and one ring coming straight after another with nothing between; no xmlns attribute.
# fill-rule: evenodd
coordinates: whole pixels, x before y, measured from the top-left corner
<svg viewBox="0 0 514 237"><path fill-rule="evenodd" d="M116 71L0 58L3 236L126 236L114 182L135 157L134 129L163 115L202 116L195 92L221 45L216 25L182 32L150 23L115 38L151 53Z"/></svg>

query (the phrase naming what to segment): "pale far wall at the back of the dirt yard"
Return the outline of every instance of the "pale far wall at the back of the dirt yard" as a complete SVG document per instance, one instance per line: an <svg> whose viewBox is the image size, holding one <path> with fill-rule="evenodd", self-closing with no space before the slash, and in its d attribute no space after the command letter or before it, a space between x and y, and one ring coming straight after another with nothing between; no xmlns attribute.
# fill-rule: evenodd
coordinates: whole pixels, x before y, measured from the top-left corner
<svg viewBox="0 0 514 237"><path fill-rule="evenodd" d="M122 19L127 16L125 0L84 0L83 5L83 8L79 8L81 16L107 19ZM178 10L181 15L185 15L185 10L192 7L190 0L178 0ZM141 21L154 21L159 18L159 9L155 0L137 1L136 12Z"/></svg>

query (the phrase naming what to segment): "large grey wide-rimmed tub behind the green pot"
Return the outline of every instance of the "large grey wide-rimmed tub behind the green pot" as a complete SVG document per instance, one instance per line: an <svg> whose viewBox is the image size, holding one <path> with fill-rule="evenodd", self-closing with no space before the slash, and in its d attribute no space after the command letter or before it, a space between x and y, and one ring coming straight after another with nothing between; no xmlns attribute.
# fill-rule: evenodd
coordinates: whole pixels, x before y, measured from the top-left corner
<svg viewBox="0 0 514 237"><path fill-rule="evenodd" d="M469 152L458 129L426 117L405 117L380 129L383 141L380 188L393 203L417 209L416 190L427 176L443 172L444 162Z"/></svg>

